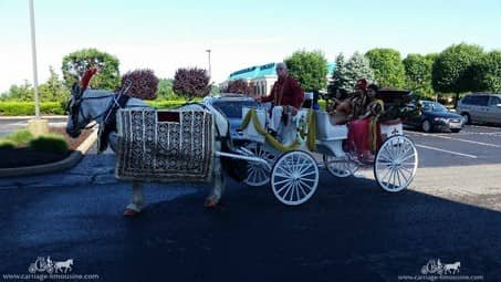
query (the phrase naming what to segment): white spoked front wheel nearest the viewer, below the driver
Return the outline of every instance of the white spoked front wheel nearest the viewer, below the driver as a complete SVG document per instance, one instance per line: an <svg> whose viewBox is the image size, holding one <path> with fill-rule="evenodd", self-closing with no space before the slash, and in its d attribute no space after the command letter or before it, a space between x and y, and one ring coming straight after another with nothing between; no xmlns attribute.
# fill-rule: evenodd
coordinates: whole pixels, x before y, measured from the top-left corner
<svg viewBox="0 0 501 282"><path fill-rule="evenodd" d="M283 154L271 171L271 188L281 202L296 206L307 201L319 185L316 160L307 153Z"/></svg>

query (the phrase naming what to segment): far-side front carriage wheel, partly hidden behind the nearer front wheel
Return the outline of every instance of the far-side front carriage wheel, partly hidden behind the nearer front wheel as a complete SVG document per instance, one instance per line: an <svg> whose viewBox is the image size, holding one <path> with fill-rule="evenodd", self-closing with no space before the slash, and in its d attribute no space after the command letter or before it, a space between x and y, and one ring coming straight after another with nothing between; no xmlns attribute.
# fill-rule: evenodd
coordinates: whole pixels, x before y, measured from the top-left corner
<svg viewBox="0 0 501 282"><path fill-rule="evenodd" d="M246 146L247 149L252 152L255 157L268 161L270 167L273 165L276 156L265 147L265 145L250 143ZM247 165L247 178L244 184L257 187L263 186L270 181L270 169L261 163L249 161Z"/></svg>

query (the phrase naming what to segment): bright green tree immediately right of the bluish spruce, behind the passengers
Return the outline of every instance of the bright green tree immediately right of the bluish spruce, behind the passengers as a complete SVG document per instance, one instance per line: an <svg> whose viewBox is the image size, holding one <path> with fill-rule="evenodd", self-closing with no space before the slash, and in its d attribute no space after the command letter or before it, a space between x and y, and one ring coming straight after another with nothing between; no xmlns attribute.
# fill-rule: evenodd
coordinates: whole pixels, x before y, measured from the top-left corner
<svg viewBox="0 0 501 282"><path fill-rule="evenodd" d="M405 86L405 69L400 53L393 49L373 49L365 53L380 87Z"/></svg>

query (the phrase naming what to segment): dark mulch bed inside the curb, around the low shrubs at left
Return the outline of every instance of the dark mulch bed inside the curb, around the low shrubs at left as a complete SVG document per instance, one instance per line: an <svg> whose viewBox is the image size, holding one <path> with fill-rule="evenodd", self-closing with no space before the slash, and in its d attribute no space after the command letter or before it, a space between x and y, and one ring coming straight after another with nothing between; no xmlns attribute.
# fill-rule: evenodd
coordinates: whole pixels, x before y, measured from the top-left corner
<svg viewBox="0 0 501 282"><path fill-rule="evenodd" d="M62 160L72 154L91 135L91 130L83 130L79 138L73 139L67 136L64 127L50 127L49 132L60 134L66 138L70 147L66 154L33 150L28 147L0 149L0 168L38 166Z"/></svg>

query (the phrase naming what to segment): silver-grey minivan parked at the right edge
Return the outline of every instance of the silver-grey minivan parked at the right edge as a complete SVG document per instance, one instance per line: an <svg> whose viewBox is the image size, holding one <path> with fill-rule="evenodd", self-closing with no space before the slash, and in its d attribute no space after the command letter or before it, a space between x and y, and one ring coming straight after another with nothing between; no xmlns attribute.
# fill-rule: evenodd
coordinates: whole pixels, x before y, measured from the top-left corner
<svg viewBox="0 0 501 282"><path fill-rule="evenodd" d="M501 124L501 94L472 93L458 102L457 112L465 123Z"/></svg>

